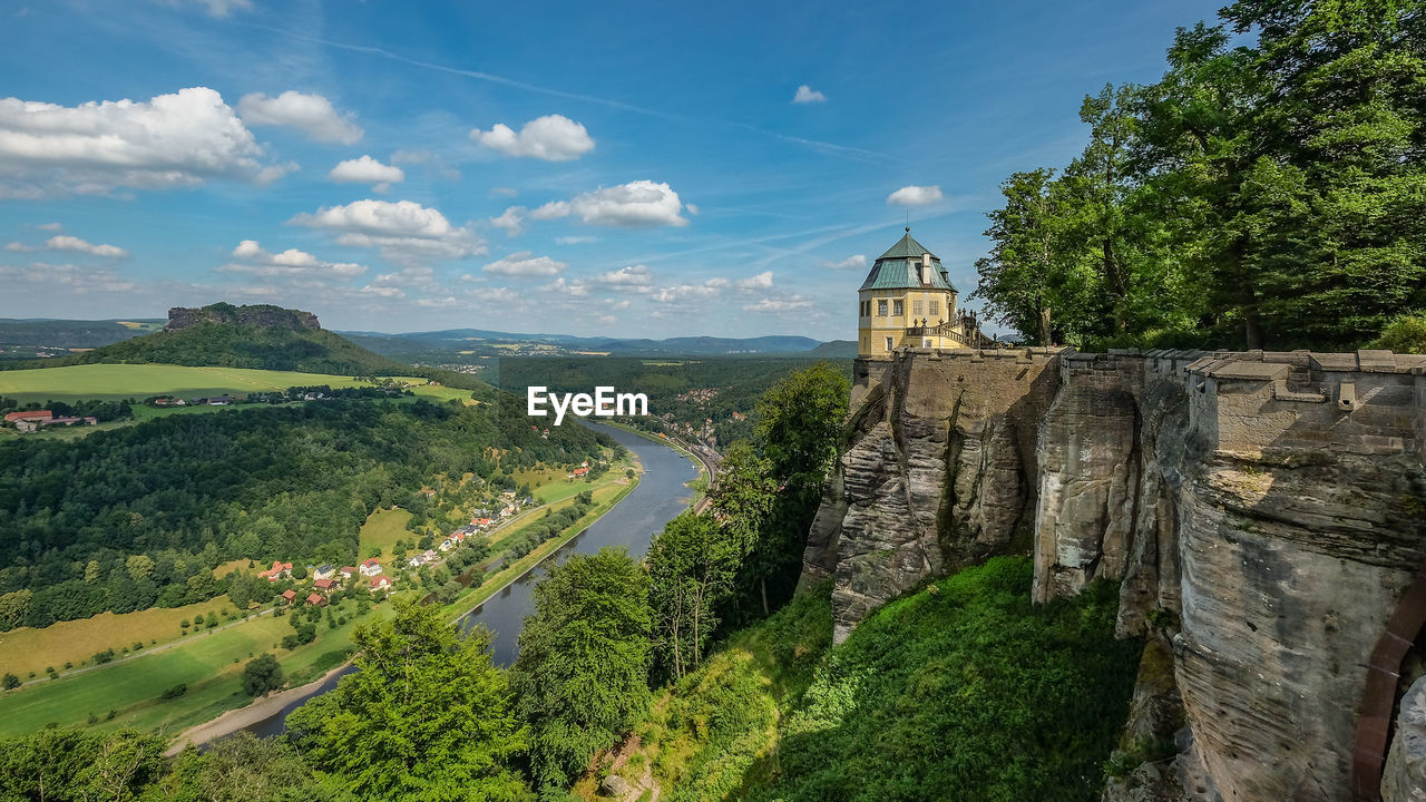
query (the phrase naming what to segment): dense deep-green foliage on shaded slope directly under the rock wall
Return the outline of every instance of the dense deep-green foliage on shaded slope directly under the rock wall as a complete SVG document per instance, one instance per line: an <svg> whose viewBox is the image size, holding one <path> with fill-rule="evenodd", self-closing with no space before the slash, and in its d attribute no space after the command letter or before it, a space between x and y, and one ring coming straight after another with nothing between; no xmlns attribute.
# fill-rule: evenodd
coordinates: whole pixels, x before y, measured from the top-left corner
<svg viewBox="0 0 1426 802"><path fill-rule="evenodd" d="M780 724L754 799L1098 799L1139 642L1117 587L1034 605L1032 567L995 558L893 601L823 662Z"/></svg>

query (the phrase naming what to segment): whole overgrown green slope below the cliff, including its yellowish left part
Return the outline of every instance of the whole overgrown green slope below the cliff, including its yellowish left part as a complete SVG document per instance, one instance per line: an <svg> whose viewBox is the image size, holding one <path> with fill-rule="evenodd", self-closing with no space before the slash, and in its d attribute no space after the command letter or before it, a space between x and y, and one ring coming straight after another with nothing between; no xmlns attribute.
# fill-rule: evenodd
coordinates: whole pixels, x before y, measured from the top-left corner
<svg viewBox="0 0 1426 802"><path fill-rule="evenodd" d="M660 698L620 773L652 765L670 801L1098 799L1141 644L1114 585L1037 606L1031 571L965 569L836 649L804 595Z"/></svg>

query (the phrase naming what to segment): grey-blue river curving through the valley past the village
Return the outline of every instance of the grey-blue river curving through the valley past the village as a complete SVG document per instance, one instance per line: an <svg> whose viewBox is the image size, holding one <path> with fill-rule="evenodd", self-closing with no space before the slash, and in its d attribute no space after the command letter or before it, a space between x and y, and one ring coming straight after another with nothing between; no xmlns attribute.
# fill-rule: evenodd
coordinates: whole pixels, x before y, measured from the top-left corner
<svg viewBox="0 0 1426 802"><path fill-rule="evenodd" d="M643 464L643 477L639 481L639 487L633 488L613 509L605 512L588 529L580 532L579 537L545 558L529 574L485 599L481 606L461 616L459 625L462 629L469 631L472 626L481 624L495 634L492 652L496 665L506 666L515 662L515 655L519 651L518 639L520 626L525 624L525 616L535 612L530 594L535 589L535 584L545 577L549 565L562 562L572 554L595 554L606 545L623 545L629 548L629 554L640 557L647 551L653 535L689 507L692 491L684 484L696 479L699 469L687 457L667 445L615 427L590 421L583 421L583 425L613 437L625 448L633 451L639 457L639 462ZM345 671L329 676L314 694L294 699L271 716L242 729L260 736L279 735L285 729L285 719L289 712L301 706L311 696L331 691L337 685L337 681L351 671L355 671L355 666L348 666Z"/></svg>

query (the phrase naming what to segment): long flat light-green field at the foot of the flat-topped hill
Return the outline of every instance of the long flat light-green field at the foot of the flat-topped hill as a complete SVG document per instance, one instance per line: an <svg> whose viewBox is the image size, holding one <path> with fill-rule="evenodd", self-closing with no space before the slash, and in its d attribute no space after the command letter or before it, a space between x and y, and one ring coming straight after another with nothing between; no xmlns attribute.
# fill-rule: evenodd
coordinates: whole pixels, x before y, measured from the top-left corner
<svg viewBox="0 0 1426 802"><path fill-rule="evenodd" d="M396 377L402 378L402 377ZM424 378L404 377L412 384ZM0 395L30 401L77 401L81 398L147 398L150 395L200 395L271 392L288 387L327 384L329 387L359 387L349 375L325 375L292 371L260 371L250 368L208 368L187 365L68 365L60 368L31 368L0 371ZM452 392L469 397L469 391L448 387L421 390L426 395L445 400Z"/></svg>

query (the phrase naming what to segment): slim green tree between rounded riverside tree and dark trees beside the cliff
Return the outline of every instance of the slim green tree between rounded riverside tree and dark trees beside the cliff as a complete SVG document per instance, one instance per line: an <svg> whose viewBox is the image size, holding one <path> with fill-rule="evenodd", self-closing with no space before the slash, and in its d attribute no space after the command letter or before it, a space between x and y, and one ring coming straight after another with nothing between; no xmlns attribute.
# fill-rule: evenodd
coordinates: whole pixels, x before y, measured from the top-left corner
<svg viewBox="0 0 1426 802"><path fill-rule="evenodd" d="M667 669L682 678L703 662L717 629L716 609L737 574L737 542L712 517L684 512L653 538L647 565L655 642Z"/></svg>

